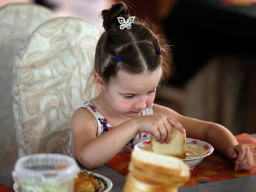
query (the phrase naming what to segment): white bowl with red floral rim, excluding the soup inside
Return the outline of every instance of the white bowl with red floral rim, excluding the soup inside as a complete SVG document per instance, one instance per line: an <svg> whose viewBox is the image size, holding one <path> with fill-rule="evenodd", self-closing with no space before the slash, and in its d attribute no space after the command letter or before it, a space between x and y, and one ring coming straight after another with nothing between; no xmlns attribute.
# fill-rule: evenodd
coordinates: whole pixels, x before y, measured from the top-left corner
<svg viewBox="0 0 256 192"><path fill-rule="evenodd" d="M199 146L205 148L205 150L206 150L206 152L203 156L181 159L184 163L188 164L190 169L193 169L196 166L196 164L199 164L204 159L204 157L211 155L214 150L212 145L205 141L187 138L186 143L193 143L193 144L199 145ZM142 147L145 147L147 145L151 145L150 139L141 141L140 143L137 143L134 146L134 150L141 150Z"/></svg>

